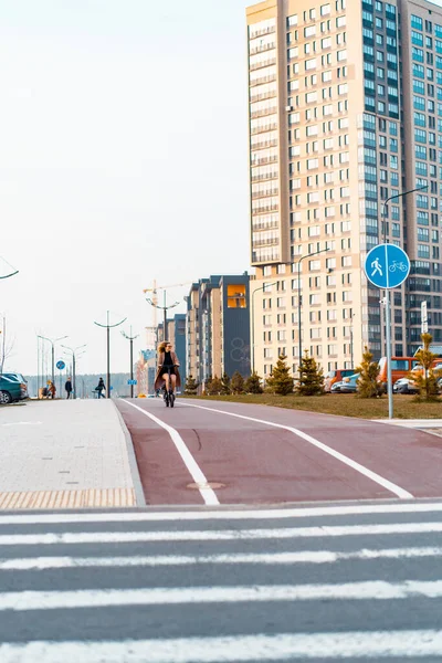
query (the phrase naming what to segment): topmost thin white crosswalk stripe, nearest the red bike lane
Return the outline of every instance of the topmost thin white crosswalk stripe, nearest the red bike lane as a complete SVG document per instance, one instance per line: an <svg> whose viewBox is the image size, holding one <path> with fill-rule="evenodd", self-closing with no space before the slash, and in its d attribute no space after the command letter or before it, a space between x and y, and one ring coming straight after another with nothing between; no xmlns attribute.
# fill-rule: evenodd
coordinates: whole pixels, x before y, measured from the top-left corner
<svg viewBox="0 0 442 663"><path fill-rule="evenodd" d="M152 523L170 520L264 520L286 518L319 518L329 516L351 516L364 514L421 514L440 513L442 503L430 504L412 502L389 504L352 504L343 506L313 506L284 509L253 511L187 511L187 512L107 512L99 514L20 514L2 515L0 513L0 527L2 525L38 525L63 523Z"/></svg>

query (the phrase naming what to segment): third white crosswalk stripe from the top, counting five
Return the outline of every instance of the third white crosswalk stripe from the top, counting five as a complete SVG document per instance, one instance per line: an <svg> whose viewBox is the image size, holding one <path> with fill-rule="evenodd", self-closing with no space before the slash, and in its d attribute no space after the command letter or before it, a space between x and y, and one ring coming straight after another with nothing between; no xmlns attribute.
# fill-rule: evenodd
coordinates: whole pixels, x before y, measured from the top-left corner
<svg viewBox="0 0 442 663"><path fill-rule="evenodd" d="M415 559L442 557L442 548L362 549L352 552L307 550L305 552L275 552L250 555L157 555L139 557L24 557L0 559L0 571L30 571L45 569L162 567L207 565L294 565L333 564L352 559Z"/></svg>

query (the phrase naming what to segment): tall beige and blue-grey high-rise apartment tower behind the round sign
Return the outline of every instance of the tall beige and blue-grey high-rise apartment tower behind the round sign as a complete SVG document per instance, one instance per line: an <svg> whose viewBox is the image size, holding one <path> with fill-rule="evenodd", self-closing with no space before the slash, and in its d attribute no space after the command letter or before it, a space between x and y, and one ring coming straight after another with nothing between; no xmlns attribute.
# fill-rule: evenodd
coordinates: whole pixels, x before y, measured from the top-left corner
<svg viewBox="0 0 442 663"><path fill-rule="evenodd" d="M364 274L385 239L412 265L391 296L393 355L419 347L423 301L442 340L442 9L267 0L246 18L256 369L283 352L296 371L299 308L325 370L385 354L383 293Z"/></svg>

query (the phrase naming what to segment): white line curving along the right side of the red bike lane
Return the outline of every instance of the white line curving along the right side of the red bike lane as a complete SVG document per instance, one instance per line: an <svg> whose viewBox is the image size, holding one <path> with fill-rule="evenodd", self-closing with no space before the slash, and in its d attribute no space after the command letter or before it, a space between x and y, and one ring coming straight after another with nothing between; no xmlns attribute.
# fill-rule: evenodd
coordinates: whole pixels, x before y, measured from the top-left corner
<svg viewBox="0 0 442 663"><path fill-rule="evenodd" d="M360 463L357 463L356 461L354 461L352 459L344 455L339 451L336 451L335 449L332 449L332 446L327 446L327 444L324 444L323 442L319 442L319 440L316 440L315 438L312 438L312 435L308 435L307 433L304 433L299 429L292 428L291 425L284 425L282 423L274 423L273 421L266 421L265 419L255 419L254 417L245 417L244 414L236 414L234 412L227 412L225 410L217 410L215 408L204 408L203 406L192 406L190 403L181 403L181 404L183 404L187 408L198 408L200 410L208 410L209 412L217 412L219 414L227 414L228 417L236 417L238 419L245 419L248 421L254 421L256 423L264 423L265 425L272 425L274 428L280 428L280 429L283 429L283 430L288 431L291 433L294 433L295 435L298 435L299 438L302 438L306 442L309 442L314 446L317 446L317 449L320 449L325 453L328 453L330 456L333 456L334 459L340 461L345 465L348 465L352 470L356 470L356 472L359 472L360 474L364 474L364 476L367 476L368 478L370 478L375 483L379 484L380 486L382 486L387 491L390 491L390 493L393 493L400 499L411 499L411 498L413 498L413 495L411 493L409 493L408 491L404 491L403 488L401 488L397 484L393 484L391 481L388 481L388 478L385 478L380 474L377 474L376 472L372 472L368 467L365 467L365 465L361 465Z"/></svg>

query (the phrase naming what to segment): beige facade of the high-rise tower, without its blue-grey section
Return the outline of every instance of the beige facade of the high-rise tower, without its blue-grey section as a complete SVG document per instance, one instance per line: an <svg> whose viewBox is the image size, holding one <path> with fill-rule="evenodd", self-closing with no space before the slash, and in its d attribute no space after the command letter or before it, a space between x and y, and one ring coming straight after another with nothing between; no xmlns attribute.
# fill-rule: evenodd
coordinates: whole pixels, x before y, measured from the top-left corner
<svg viewBox="0 0 442 663"><path fill-rule="evenodd" d="M277 182L282 260L257 261L252 255L257 267L252 292L267 284L264 292L255 293L253 306L255 367L264 378L280 352L287 355L296 375L298 273L302 349L325 370L349 368L351 357L356 365L367 343L367 290L361 273L366 245L358 179L364 130L361 3L345 4L340 0L278 0L248 10L250 36L260 24L266 25L263 21L275 19L278 63L274 99L278 179L272 188ZM249 57L256 50L255 41L249 40ZM250 83L252 98L257 86ZM251 125L252 108L250 103ZM250 135L253 138L252 127ZM259 225L253 208L256 152L251 144L252 227ZM252 233L252 254L260 243L256 238L259 233ZM303 257L317 251L322 253Z"/></svg>

